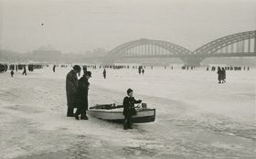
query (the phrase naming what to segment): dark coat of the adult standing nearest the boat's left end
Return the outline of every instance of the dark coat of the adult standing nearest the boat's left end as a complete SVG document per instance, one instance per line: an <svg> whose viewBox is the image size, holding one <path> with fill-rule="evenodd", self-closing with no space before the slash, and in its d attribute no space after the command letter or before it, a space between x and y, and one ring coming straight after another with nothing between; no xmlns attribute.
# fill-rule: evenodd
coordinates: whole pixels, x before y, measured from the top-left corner
<svg viewBox="0 0 256 159"><path fill-rule="evenodd" d="M80 108L88 110L88 90L90 83L85 76L81 77L78 82L77 103Z"/></svg>

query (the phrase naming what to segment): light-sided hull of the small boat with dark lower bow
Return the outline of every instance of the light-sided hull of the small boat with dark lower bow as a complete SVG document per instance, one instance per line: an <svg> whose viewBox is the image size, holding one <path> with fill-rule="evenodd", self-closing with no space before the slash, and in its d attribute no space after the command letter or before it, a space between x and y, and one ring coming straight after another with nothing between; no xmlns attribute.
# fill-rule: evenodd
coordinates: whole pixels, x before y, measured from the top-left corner
<svg viewBox="0 0 256 159"><path fill-rule="evenodd" d="M133 123L155 122L155 109L140 109L136 111L137 114L132 117ZM123 111L90 109L88 114L104 121L124 122Z"/></svg>

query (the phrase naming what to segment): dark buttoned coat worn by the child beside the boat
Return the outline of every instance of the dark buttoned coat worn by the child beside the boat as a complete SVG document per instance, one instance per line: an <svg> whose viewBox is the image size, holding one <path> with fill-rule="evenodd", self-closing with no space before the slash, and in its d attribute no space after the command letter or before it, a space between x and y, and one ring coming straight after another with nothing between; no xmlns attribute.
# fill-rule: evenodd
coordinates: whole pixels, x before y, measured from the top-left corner
<svg viewBox="0 0 256 159"><path fill-rule="evenodd" d="M133 97L124 97L123 99L123 115L131 115L134 108L134 103L141 103L142 101L136 101Z"/></svg>

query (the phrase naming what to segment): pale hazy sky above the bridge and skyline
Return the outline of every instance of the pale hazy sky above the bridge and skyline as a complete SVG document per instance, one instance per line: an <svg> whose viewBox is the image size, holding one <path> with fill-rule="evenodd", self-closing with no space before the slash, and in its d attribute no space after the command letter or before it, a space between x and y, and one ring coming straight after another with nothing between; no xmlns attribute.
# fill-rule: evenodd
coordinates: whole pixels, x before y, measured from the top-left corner
<svg viewBox="0 0 256 159"><path fill-rule="evenodd" d="M0 48L21 52L110 50L143 37L193 50L255 29L256 0L0 0Z"/></svg>

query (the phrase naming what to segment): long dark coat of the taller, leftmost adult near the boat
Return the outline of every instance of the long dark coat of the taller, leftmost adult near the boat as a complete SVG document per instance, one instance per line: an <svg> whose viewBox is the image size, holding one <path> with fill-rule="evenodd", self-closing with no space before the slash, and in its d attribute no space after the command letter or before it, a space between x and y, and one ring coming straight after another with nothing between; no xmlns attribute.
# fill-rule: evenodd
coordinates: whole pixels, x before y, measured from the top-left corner
<svg viewBox="0 0 256 159"><path fill-rule="evenodd" d="M67 93L67 102L69 108L76 107L76 93L78 89L78 77L77 74L70 70L66 77L66 93Z"/></svg>

